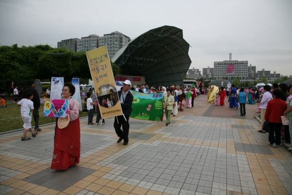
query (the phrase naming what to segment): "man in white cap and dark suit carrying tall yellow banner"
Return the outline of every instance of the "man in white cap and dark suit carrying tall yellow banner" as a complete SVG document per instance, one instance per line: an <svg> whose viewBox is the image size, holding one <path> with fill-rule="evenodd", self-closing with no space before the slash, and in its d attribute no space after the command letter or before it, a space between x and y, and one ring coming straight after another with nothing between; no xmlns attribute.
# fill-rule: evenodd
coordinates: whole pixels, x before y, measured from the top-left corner
<svg viewBox="0 0 292 195"><path fill-rule="evenodd" d="M129 141L129 116L132 113L133 103L133 95L129 92L131 85L131 81L125 80L125 82L123 82L123 90L118 91L118 97L120 98L120 103L124 116L119 115L114 117L113 123L114 130L119 137L117 143L120 143L124 139L123 145L128 145ZM123 131L121 130L121 126L123 126Z"/></svg>

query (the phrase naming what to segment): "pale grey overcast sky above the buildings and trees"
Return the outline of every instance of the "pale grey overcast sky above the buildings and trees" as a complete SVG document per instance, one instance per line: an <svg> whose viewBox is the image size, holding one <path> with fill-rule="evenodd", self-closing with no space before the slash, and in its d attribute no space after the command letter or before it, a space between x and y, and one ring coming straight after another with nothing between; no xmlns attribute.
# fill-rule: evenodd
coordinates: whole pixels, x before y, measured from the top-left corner
<svg viewBox="0 0 292 195"><path fill-rule="evenodd" d="M248 60L292 75L292 0L0 0L0 44L49 44L119 31L134 39L164 25L183 29L191 67Z"/></svg>

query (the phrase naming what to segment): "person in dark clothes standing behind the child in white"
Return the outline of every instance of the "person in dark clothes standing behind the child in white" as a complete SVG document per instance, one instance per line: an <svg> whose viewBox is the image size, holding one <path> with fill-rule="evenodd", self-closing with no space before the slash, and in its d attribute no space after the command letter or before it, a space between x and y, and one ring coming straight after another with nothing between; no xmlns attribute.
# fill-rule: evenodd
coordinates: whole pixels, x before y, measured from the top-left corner
<svg viewBox="0 0 292 195"><path fill-rule="evenodd" d="M34 98L31 99L31 101L34 102L34 113L33 113L33 117L35 120L35 129L34 131L41 131L41 128L39 128L38 126L38 120L39 120L39 107L40 107L40 101L39 101L39 96L37 93L37 90L34 88L35 87L35 81L30 80L27 82L28 84L28 88L26 88L23 92L23 97L26 97L26 93L29 91L33 92Z"/></svg>

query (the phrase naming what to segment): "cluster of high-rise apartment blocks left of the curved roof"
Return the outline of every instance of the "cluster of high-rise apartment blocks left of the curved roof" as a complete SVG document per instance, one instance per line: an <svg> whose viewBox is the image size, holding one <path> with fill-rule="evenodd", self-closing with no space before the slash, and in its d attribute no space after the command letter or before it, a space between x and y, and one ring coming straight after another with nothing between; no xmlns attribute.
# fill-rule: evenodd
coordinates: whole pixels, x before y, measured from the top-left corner
<svg viewBox="0 0 292 195"><path fill-rule="evenodd" d="M74 52L90 51L98 47L107 45L110 59L131 39L118 31L105 34L103 37L89 35L81 39L66 39L58 42L58 48L66 48Z"/></svg>

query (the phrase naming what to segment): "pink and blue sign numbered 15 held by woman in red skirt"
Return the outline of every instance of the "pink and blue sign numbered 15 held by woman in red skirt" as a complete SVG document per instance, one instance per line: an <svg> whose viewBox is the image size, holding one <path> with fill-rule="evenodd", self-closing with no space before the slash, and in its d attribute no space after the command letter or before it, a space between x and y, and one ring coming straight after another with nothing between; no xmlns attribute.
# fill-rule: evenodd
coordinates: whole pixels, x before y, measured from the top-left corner
<svg viewBox="0 0 292 195"><path fill-rule="evenodd" d="M44 99L44 117L68 118L69 99Z"/></svg>

